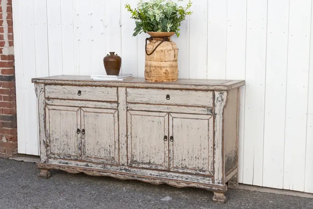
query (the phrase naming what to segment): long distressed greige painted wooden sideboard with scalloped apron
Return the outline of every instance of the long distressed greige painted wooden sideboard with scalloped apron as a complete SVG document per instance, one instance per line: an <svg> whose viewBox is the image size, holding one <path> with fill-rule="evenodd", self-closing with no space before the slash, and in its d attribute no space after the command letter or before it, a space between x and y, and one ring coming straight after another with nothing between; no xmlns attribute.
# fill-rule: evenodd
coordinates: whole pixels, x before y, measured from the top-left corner
<svg viewBox="0 0 313 209"><path fill-rule="evenodd" d="M198 187L225 202L238 186L239 87L244 81L154 83L89 76L32 79L41 170Z"/></svg>

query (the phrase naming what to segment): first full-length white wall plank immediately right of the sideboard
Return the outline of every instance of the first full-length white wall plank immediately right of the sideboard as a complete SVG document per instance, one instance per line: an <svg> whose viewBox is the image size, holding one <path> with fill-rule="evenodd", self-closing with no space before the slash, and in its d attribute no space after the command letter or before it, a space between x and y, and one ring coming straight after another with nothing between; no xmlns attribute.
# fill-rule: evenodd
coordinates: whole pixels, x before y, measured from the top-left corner
<svg viewBox="0 0 313 209"><path fill-rule="evenodd" d="M262 186L267 1L247 0L243 183ZM273 89L275 91L275 89Z"/></svg>

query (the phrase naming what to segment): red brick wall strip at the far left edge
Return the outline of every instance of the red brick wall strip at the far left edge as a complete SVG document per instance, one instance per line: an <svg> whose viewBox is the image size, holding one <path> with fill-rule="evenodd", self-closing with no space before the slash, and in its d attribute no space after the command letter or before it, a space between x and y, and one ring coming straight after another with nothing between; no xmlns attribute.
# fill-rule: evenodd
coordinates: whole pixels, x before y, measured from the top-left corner
<svg viewBox="0 0 313 209"><path fill-rule="evenodd" d="M12 0L0 0L0 155L17 153Z"/></svg>

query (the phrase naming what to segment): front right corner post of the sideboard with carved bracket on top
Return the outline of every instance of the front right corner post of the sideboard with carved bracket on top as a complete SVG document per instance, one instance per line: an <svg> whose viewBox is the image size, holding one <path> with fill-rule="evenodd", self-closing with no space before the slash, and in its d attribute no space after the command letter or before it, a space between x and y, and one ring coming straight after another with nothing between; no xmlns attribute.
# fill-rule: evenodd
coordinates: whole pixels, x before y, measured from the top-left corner
<svg viewBox="0 0 313 209"><path fill-rule="evenodd" d="M215 112L214 112L214 183L223 185L223 111L227 103L227 91L214 91Z"/></svg>

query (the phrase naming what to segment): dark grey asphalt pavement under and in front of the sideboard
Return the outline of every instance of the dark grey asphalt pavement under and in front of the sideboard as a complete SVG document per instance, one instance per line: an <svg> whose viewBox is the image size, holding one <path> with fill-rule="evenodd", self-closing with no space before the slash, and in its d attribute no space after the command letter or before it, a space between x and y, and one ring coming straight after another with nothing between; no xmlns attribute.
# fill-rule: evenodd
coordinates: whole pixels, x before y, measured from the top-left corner
<svg viewBox="0 0 313 209"><path fill-rule="evenodd" d="M229 189L227 203L213 193L134 180L51 171L35 163L0 158L0 209L313 209L313 198Z"/></svg>

